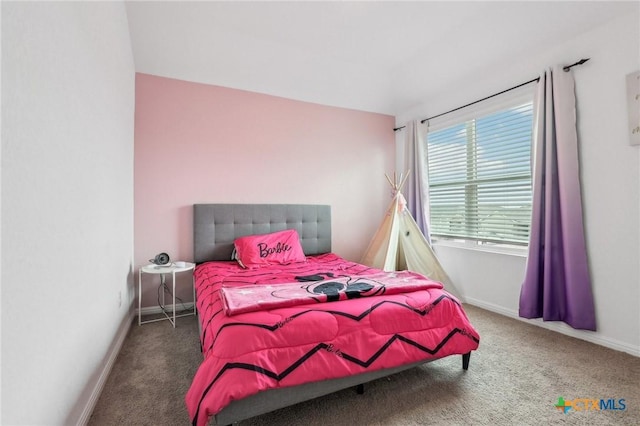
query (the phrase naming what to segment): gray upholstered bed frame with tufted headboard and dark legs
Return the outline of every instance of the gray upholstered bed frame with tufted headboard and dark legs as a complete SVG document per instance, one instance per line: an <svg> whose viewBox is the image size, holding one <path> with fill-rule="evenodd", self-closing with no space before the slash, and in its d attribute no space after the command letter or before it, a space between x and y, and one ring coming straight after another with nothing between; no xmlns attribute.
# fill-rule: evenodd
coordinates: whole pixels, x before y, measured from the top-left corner
<svg viewBox="0 0 640 426"><path fill-rule="evenodd" d="M284 229L298 231L306 255L331 251L331 207L328 205L194 204L194 261L202 263L211 260L231 260L233 241L236 238ZM464 370L469 367L470 356L470 353L462 356ZM349 387L356 387L357 392L362 393L364 383L426 362L429 361L260 392L231 402L212 417L211 422L215 425L232 424Z"/></svg>

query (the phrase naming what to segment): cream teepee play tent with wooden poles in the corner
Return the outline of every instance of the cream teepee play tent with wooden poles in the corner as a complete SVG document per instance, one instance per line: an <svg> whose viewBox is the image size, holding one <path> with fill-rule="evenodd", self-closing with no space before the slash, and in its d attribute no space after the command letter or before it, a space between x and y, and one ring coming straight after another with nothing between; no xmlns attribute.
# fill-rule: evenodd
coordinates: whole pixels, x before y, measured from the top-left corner
<svg viewBox="0 0 640 426"><path fill-rule="evenodd" d="M396 179L394 174L392 181L385 174L393 190L393 200L360 263L385 271L417 272L441 282L445 290L460 298L460 293L407 209L401 190L408 175L403 178L401 174Z"/></svg>

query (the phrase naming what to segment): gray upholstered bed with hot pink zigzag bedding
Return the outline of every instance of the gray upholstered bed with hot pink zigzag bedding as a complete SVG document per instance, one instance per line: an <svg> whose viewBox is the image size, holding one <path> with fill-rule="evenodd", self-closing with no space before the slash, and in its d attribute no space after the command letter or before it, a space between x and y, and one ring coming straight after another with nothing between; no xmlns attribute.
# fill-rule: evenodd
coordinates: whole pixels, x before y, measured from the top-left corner
<svg viewBox="0 0 640 426"><path fill-rule="evenodd" d="M194 425L232 424L348 387L361 392L445 356L461 355L468 368L479 335L460 303L424 277L332 253L330 206L196 204L193 213L204 357L185 397ZM232 260L241 240L286 230L304 261L243 268ZM332 293L336 286L351 290Z"/></svg>

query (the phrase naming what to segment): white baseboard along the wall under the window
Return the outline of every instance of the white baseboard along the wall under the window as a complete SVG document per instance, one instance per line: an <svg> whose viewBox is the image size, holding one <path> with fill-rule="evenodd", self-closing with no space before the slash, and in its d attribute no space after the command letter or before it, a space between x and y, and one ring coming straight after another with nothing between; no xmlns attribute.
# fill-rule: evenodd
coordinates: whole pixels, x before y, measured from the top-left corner
<svg viewBox="0 0 640 426"><path fill-rule="evenodd" d="M517 319L519 321L526 322L527 324L536 325L538 327L546 328L547 330L551 330L567 336L575 337L576 339L586 340L587 342L595 343L596 345L604 346L610 349L614 349L616 351L626 352L630 355L640 357L639 347L635 347L625 342L620 342L619 340L600 336L594 332L576 330L566 325L563 322L558 322L558 321L546 322L541 319L522 318L518 315L518 311L506 309L502 306L494 305L492 303L487 303L482 300L478 300L470 297L465 298L465 303L468 303L473 306L477 306L487 311L495 312L496 314L504 315L506 317L510 317L510 318Z"/></svg>

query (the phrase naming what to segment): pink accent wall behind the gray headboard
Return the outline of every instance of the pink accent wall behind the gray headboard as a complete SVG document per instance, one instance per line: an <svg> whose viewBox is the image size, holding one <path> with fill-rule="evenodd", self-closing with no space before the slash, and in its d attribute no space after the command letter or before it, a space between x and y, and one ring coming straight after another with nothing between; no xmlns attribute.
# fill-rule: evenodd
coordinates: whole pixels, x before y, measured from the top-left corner
<svg viewBox="0 0 640 426"><path fill-rule="evenodd" d="M333 251L359 260L390 201L394 124L388 115L136 74L136 270L163 251L192 260L195 203L329 204ZM191 301L187 284L178 286ZM148 287L143 306L155 304Z"/></svg>

